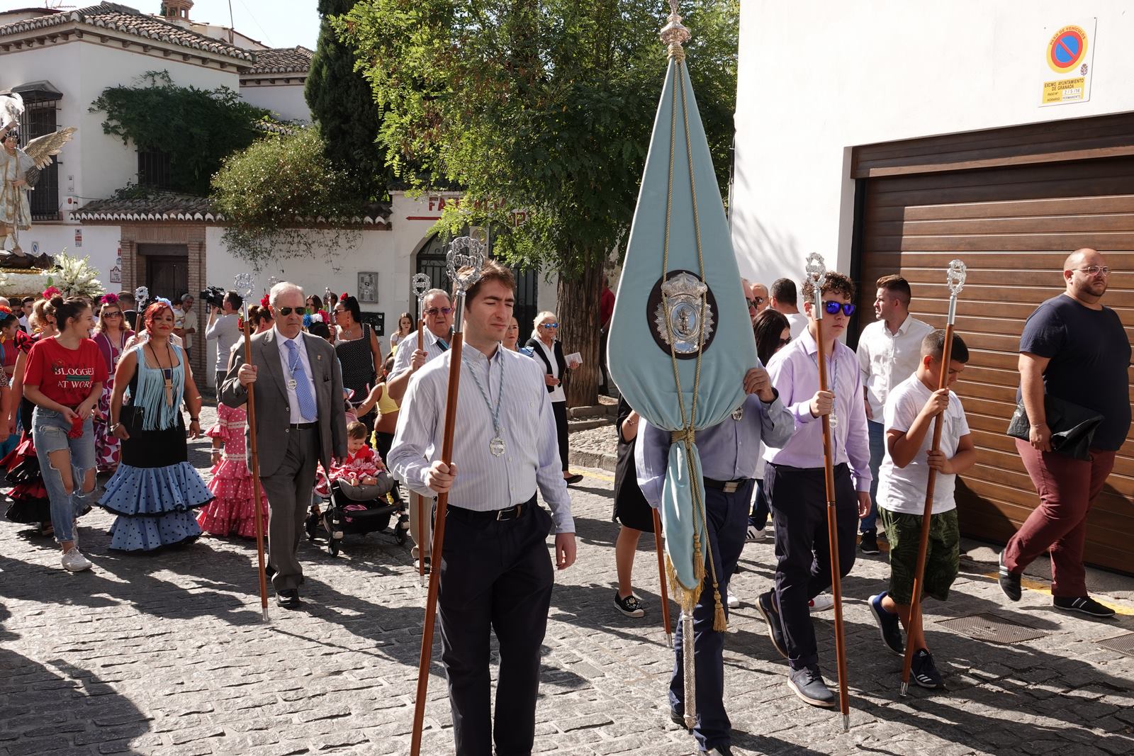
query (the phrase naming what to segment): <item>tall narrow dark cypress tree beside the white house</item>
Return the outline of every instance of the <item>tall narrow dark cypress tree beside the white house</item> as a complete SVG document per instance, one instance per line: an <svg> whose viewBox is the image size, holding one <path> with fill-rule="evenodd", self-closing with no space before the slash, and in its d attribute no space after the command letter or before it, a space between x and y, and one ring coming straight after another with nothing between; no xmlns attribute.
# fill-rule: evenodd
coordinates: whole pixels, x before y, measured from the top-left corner
<svg viewBox="0 0 1134 756"><path fill-rule="evenodd" d="M355 2L319 0L322 22L304 96L324 136L327 158L349 177L359 201L365 202L381 199L389 179L382 150L375 144L381 118L375 118L370 86L355 71L354 52L338 40L329 22Z"/></svg>

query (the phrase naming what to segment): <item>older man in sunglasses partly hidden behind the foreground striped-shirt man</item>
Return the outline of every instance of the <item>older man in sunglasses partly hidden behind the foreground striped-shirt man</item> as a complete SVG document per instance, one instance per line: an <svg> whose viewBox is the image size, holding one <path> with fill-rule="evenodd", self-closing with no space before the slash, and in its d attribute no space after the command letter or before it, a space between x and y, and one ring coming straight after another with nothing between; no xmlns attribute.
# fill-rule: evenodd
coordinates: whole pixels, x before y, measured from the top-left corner
<svg viewBox="0 0 1134 756"><path fill-rule="evenodd" d="M452 329L452 303L449 295L441 289L430 289L423 299L422 318L425 321L425 348L417 348L417 331L401 339L401 345L393 352L393 367L390 369L388 392L390 399L400 402L409 385L409 379L431 359L440 357L449 349L450 330ZM389 466L389 460L387 460ZM424 545L425 568L429 570L429 544L433 540L433 496L426 496L425 506L418 503L420 493L409 492L409 540L414 542L411 557L417 560L417 550ZM425 521L421 523L418 511L428 511Z"/></svg>

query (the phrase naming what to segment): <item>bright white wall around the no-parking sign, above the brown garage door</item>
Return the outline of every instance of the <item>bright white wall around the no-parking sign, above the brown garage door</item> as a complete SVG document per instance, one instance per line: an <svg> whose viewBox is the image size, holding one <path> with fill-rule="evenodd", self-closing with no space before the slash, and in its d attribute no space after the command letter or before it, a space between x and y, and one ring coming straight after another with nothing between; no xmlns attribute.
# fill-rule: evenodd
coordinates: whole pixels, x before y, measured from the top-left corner
<svg viewBox="0 0 1134 756"><path fill-rule="evenodd" d="M1056 78L1048 41L1091 17L1090 102L1039 107L1042 82ZM848 269L855 145L1134 110L1131 40L1125 0L874 0L824 2L822 12L744 0L733 210L741 274L798 280L811 252Z"/></svg>

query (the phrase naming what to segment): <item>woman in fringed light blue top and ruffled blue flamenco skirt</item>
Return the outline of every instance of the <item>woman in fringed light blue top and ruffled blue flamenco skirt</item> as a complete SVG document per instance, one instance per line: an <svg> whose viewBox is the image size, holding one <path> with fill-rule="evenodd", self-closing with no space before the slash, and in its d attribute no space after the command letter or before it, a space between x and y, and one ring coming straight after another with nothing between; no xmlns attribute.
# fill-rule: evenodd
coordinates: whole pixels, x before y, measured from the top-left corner
<svg viewBox="0 0 1134 756"><path fill-rule="evenodd" d="M185 352L170 342L174 311L164 299L143 315L149 338L126 351L115 371L111 432L122 441L121 464L107 482L100 507L118 518L110 547L154 551L189 543L201 535L193 510L213 494L188 462L181 399L189 410L189 434L201 435L201 397ZM124 394L130 401L124 405Z"/></svg>

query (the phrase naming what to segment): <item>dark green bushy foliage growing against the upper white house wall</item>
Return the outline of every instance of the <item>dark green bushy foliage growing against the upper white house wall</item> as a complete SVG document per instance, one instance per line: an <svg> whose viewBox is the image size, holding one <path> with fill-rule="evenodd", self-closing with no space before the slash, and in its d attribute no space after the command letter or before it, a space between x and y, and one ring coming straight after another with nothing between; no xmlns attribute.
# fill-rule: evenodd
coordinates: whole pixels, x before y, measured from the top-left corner
<svg viewBox="0 0 1134 756"><path fill-rule="evenodd" d="M107 134L138 150L169 154L170 188L204 195L229 154L252 144L270 111L249 105L228 87L177 86L168 71L149 71L134 86L112 86L91 103L104 112Z"/></svg>

